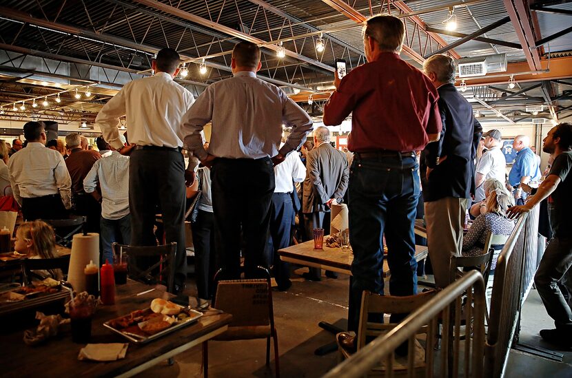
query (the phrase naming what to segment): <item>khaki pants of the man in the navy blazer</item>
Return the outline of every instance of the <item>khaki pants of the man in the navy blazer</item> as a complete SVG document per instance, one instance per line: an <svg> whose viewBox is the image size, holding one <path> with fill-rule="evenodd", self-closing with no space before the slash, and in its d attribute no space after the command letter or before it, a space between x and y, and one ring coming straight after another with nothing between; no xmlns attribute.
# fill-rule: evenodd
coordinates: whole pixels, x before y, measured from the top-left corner
<svg viewBox="0 0 572 378"><path fill-rule="evenodd" d="M461 255L467 202L467 198L454 197L425 202L427 247L437 287L451 283L451 257Z"/></svg>

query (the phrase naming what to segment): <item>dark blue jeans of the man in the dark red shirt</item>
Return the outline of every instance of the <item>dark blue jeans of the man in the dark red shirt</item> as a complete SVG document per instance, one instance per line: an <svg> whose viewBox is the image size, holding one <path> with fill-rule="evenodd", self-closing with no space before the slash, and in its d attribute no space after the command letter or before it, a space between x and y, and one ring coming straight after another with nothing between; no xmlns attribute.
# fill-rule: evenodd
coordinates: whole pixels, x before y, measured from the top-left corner
<svg viewBox="0 0 572 378"><path fill-rule="evenodd" d="M384 233L391 271L389 293L417 293L413 224L419 194L419 169L413 156L354 157L349 175L349 240L354 250L350 330L358 330L362 291L384 293Z"/></svg>

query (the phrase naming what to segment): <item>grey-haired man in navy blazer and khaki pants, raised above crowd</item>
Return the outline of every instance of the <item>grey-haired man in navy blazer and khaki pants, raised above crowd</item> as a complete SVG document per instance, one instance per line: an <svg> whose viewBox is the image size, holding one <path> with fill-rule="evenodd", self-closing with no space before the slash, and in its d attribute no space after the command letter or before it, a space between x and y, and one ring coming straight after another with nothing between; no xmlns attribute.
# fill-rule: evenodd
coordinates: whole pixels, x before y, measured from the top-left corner
<svg viewBox="0 0 572 378"><path fill-rule="evenodd" d="M451 257L460 256L467 202L475 193L473 161L482 134L471 104L455 87L455 61L436 54L423 71L439 93L441 136L425 147L427 184L423 186L427 247L437 287L451 283ZM481 159L482 160L482 159Z"/></svg>

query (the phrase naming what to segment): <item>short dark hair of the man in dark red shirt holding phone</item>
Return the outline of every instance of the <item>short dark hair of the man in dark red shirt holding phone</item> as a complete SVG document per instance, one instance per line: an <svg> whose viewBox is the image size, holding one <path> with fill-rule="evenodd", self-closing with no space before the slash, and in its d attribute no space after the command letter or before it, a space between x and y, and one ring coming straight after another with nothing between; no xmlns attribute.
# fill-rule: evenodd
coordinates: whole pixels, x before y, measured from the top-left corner
<svg viewBox="0 0 572 378"><path fill-rule="evenodd" d="M375 16L365 21L364 34L375 39L380 50L400 52L405 38L405 25L394 16Z"/></svg>

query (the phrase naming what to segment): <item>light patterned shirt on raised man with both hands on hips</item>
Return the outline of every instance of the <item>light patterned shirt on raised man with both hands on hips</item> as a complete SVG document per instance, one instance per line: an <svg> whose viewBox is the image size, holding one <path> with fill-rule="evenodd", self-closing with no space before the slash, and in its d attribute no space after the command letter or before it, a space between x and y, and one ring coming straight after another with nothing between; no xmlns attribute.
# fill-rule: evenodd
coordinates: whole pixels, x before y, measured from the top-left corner
<svg viewBox="0 0 572 378"><path fill-rule="evenodd" d="M201 131L212 122L208 154L218 158L273 157L278 154L282 125L292 126L280 154L298 149L311 130L311 119L283 90L256 78L254 72L236 72L198 96L183 118L185 146L203 160Z"/></svg>

